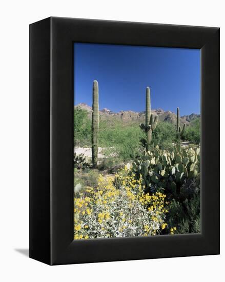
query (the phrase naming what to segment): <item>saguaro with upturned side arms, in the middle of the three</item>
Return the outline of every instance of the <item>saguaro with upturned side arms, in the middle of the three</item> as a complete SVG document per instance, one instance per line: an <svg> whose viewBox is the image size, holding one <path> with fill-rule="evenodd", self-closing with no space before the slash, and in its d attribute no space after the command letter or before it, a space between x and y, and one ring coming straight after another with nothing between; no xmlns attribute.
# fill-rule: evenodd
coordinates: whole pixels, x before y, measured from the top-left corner
<svg viewBox="0 0 225 282"><path fill-rule="evenodd" d="M155 130L158 122L158 115L151 114L150 88L146 88L146 122L140 124L140 128L146 132L146 150L150 148L152 142L152 131Z"/></svg>

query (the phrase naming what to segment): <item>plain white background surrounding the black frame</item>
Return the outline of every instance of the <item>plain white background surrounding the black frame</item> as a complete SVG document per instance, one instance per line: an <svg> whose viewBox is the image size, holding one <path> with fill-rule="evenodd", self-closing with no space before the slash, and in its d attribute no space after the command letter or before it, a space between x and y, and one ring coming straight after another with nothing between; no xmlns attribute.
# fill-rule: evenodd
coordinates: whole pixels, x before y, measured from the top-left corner
<svg viewBox="0 0 225 282"><path fill-rule="evenodd" d="M221 185L221 255L53 267L28 258L29 24L48 16L64 16L220 27L221 66L224 66L225 25L222 2L217 0L8 0L1 3L0 279L2 281L52 279L53 281L185 282L203 279L221 281L222 277L224 278L223 183ZM223 69L220 77L221 93L223 93ZM221 95L221 105L225 106L223 95ZM224 122L225 118L221 115L221 138L224 136ZM224 149L221 148L221 159L224 157ZM223 162L221 169L221 178L223 178L225 169Z"/></svg>

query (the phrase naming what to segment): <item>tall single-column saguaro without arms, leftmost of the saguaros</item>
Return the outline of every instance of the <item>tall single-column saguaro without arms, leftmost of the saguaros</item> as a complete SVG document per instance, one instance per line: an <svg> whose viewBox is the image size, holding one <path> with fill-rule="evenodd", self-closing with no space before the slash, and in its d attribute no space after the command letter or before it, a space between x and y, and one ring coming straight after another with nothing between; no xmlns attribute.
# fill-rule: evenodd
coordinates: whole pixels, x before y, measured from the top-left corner
<svg viewBox="0 0 225 282"><path fill-rule="evenodd" d="M93 100L92 100L92 124L91 124L91 152L92 166L97 167L98 158L98 129L99 129L99 110L98 110L98 82L93 82Z"/></svg>

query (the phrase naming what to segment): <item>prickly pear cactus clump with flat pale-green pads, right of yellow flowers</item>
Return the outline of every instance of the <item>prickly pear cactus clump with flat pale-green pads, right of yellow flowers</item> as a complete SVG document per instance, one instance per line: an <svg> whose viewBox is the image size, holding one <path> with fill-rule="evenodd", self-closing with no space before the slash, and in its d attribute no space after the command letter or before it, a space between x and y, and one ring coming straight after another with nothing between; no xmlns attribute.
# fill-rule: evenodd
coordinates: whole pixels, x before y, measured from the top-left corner
<svg viewBox="0 0 225 282"><path fill-rule="evenodd" d="M168 150L158 146L148 151L132 166L137 179L143 179L146 191L170 191L179 197L180 190L189 180L200 181L200 147L176 145Z"/></svg>

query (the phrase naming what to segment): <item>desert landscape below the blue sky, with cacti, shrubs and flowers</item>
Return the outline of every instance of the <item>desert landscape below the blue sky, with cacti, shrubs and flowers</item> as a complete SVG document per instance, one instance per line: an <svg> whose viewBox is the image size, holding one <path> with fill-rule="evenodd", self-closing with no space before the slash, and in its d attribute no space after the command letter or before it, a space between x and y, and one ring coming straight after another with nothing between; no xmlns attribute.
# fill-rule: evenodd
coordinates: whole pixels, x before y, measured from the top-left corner
<svg viewBox="0 0 225 282"><path fill-rule="evenodd" d="M151 111L149 87L138 114L99 111L96 80L92 97L74 107L74 239L200 232L200 117Z"/></svg>

